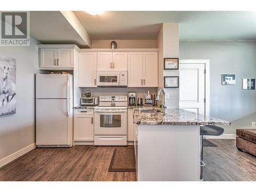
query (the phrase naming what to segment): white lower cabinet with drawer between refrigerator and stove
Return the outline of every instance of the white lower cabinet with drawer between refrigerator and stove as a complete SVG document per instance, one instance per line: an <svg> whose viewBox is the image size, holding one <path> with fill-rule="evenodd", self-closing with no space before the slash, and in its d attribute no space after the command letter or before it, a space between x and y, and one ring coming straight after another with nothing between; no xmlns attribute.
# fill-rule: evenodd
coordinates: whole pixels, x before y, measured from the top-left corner
<svg viewBox="0 0 256 192"><path fill-rule="evenodd" d="M76 110L74 116L74 141L94 140L93 109Z"/></svg>

